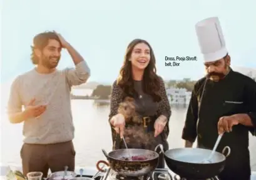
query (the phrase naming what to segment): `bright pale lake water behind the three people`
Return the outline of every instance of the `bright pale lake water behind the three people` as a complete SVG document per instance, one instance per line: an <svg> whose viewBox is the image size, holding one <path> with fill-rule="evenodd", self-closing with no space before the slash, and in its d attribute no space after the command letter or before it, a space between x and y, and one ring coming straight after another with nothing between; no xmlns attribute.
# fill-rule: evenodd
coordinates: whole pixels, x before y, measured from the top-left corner
<svg viewBox="0 0 256 180"><path fill-rule="evenodd" d="M91 91L83 91L90 94ZM1 163L21 166L20 149L23 144L23 124L9 123L6 113L8 91L1 92ZM78 93L74 93L78 94ZM187 108L172 108L170 118L170 148L182 148L183 123ZM72 100L72 113L75 126L74 146L76 166L95 166L105 156L101 149L111 151L111 130L108 124L110 106L100 106L94 100ZM254 149L254 150L253 150ZM250 156L253 171L256 171L256 138L250 136Z"/></svg>

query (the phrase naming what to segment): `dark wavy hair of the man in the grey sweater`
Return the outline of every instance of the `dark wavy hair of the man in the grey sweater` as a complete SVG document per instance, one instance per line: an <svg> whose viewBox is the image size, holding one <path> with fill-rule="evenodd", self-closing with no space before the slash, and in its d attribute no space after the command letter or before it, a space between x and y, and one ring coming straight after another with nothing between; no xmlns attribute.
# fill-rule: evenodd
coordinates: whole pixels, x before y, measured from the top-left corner
<svg viewBox="0 0 256 180"><path fill-rule="evenodd" d="M38 64L38 60L39 60L38 56L36 56L36 54L34 53L34 49L43 50L43 48L47 46L49 39L55 39L56 41L59 41L59 37L54 32L51 32L51 31L42 32L34 36L33 46L31 46L31 50L32 50L31 60L33 64ZM60 41L59 43L61 44Z"/></svg>

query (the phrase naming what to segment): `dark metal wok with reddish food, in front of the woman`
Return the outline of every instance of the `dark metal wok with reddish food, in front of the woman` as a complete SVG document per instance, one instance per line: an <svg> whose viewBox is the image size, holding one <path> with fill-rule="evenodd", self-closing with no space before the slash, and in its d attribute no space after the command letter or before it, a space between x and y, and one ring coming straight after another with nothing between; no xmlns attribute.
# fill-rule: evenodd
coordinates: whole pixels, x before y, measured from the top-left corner
<svg viewBox="0 0 256 180"><path fill-rule="evenodd" d="M156 149L158 146L156 146ZM110 153L106 153L104 149L102 151L106 159L108 159L108 163L106 161L98 161L96 166L99 171L104 171L99 167L100 163L103 163L110 166L121 176L138 177L154 171L158 166L159 154L155 151L146 149L118 149ZM145 156L146 160L125 160L124 158L128 158L128 151L131 156Z"/></svg>

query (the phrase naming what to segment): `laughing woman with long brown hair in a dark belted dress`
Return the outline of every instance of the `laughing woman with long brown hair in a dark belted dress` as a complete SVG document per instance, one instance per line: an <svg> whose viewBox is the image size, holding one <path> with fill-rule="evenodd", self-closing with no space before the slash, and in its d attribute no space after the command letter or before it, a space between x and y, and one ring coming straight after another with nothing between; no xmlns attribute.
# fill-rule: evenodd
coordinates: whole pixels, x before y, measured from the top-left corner
<svg viewBox="0 0 256 180"><path fill-rule="evenodd" d="M130 42L126 49L119 77L113 83L111 93L109 121L112 131L113 149L125 148L122 141L123 137L126 139L128 148L155 150L158 144L162 144L164 151L168 149L166 139L169 134L168 124L171 109L166 96L165 83L156 74L155 63L155 55L148 42L143 39L134 39ZM134 99L136 115L138 115L142 123L127 121L127 117L124 114L118 113L120 103L127 97ZM138 134L139 130L130 134L128 131L125 131L133 127L138 127L138 129L143 127L145 129L143 133L147 137L151 137L150 143L147 142L146 144L138 136L137 138L130 136L131 134ZM160 153L161 149L156 149ZM160 153L158 168L164 168L164 166L163 153Z"/></svg>

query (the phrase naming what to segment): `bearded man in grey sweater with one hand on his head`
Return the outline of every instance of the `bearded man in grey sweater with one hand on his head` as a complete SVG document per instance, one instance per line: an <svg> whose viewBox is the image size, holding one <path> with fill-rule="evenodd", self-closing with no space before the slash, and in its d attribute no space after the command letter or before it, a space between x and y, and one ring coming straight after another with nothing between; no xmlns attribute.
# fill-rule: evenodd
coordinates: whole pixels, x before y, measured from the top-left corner
<svg viewBox="0 0 256 180"><path fill-rule="evenodd" d="M31 59L36 65L16 78L11 86L8 114L11 123L22 123L23 173L48 170L74 171L74 126L71 87L86 83L90 69L81 55L58 33L43 32L34 37ZM66 49L75 68L56 69L61 49ZM24 108L23 108L24 107Z"/></svg>

